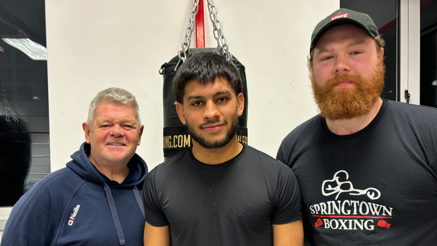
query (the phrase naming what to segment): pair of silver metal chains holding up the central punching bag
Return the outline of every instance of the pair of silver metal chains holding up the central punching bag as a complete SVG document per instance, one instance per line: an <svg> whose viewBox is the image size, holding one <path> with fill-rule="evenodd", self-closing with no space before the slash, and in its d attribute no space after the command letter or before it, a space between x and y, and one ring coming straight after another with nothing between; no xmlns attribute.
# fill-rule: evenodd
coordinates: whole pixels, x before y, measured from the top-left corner
<svg viewBox="0 0 437 246"><path fill-rule="evenodd" d="M212 25L214 27L214 38L217 41L217 48L222 48L225 53L226 60L229 62L232 59L232 54L229 52L229 45L226 42L226 38L223 34L222 23L219 21L217 17L217 7L214 4L213 0L207 0L208 2L208 10L209 10L209 19L211 19ZM184 63L187 59L187 51L191 45L191 34L193 33L193 24L196 19L197 12L199 11L199 0L193 0L193 10L190 12L188 27L185 29L185 38L181 44L182 50L178 52L179 62L176 64L175 71L178 69L179 64Z"/></svg>

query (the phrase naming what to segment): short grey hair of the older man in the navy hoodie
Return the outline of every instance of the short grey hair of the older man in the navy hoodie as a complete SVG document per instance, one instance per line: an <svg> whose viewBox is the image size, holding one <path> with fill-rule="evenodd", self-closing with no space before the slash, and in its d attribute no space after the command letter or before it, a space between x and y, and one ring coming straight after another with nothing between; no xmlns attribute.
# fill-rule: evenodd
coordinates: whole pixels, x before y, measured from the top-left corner
<svg viewBox="0 0 437 246"><path fill-rule="evenodd" d="M130 104L134 106L135 110L137 111L136 120L138 123L138 127L141 128L140 108L138 107L135 96L125 89L117 87L111 87L99 92L97 96L91 101L87 119L87 123L90 128L94 122L94 112L96 111L96 107L99 103L112 103L119 105Z"/></svg>

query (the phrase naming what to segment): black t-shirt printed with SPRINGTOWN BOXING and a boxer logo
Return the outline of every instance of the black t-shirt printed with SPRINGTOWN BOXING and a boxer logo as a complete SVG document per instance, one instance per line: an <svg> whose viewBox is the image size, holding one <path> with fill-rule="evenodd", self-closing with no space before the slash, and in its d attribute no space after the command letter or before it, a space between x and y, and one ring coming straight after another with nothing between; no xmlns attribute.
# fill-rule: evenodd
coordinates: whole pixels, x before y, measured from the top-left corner
<svg viewBox="0 0 437 246"><path fill-rule="evenodd" d="M299 182L307 245L437 245L435 122L437 109L383 100L354 134L320 116L288 134L277 159Z"/></svg>

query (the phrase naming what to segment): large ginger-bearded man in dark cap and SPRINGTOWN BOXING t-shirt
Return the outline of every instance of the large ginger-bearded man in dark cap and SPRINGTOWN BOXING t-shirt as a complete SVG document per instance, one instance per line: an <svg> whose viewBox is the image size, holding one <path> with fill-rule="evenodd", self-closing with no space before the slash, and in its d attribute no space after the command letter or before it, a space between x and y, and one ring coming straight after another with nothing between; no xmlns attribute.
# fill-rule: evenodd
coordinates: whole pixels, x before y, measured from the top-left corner
<svg viewBox="0 0 437 246"><path fill-rule="evenodd" d="M437 109L379 97L383 46L370 17L346 9L311 37L320 114L277 154L300 185L306 245L437 244Z"/></svg>

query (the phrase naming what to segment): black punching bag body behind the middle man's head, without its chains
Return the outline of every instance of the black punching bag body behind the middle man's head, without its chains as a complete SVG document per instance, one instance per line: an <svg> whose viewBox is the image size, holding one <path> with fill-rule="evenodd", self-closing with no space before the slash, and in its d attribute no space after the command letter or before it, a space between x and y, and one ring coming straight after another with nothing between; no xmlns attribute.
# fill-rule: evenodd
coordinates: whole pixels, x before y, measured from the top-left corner
<svg viewBox="0 0 437 246"><path fill-rule="evenodd" d="M188 49L187 59L193 54L200 52L212 52L222 56L225 55L221 48L196 48ZM243 114L238 117L237 139L239 142L247 144L247 111L249 98L247 96L246 72L244 66L234 56L232 56L231 60L240 72L240 77L243 83L242 93L244 95L244 111ZM179 120L178 113L176 112L176 96L173 92L173 78L177 72L175 71L175 68L178 62L179 57L175 56L168 63L164 63L160 70L160 74L162 74L164 77L164 159L168 159L169 157L177 154L179 151L192 145L187 126L182 124L182 122Z"/></svg>

